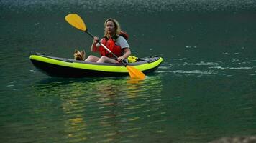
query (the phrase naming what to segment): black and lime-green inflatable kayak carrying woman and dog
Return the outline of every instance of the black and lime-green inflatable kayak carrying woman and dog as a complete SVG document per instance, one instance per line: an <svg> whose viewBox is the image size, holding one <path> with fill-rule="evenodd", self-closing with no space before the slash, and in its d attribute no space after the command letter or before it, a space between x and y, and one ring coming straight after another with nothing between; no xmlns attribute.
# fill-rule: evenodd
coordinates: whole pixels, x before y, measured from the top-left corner
<svg viewBox="0 0 256 143"><path fill-rule="evenodd" d="M128 70L122 64L96 63L78 61L44 54L33 54L29 57L32 64L50 77L122 77L129 76ZM162 63L163 58L149 56L141 58L129 66L142 71L144 74L154 72Z"/></svg>

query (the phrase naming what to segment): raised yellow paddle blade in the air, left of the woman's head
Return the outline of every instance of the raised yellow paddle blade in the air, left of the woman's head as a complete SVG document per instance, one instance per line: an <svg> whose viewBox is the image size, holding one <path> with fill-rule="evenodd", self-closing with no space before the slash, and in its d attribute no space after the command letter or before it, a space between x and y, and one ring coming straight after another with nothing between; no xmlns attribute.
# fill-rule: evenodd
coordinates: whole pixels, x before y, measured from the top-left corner
<svg viewBox="0 0 256 143"><path fill-rule="evenodd" d="M68 14L65 16L65 20L68 23L81 31L86 31L86 24L84 24L83 19L81 19L78 14Z"/></svg>

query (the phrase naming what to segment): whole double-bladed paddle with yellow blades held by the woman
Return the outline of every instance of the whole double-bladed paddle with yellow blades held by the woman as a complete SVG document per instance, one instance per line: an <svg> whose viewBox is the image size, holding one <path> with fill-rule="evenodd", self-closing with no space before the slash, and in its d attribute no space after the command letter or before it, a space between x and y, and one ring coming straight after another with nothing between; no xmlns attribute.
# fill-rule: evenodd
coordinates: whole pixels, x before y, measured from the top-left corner
<svg viewBox="0 0 256 143"><path fill-rule="evenodd" d="M86 24L84 24L83 19L81 19L81 17L78 16L78 14L68 14L67 16L65 16L65 20L68 21L70 25L74 26L75 28L81 31L86 32L89 36L91 36L91 38L94 38L94 36L88 31L88 29L86 29ZM116 59L118 58L104 44L102 44L100 41L98 41L98 43L101 44L101 46L103 46L104 49L106 49L106 51L109 51L109 53L111 53ZM124 63L124 61L121 61L121 63L127 68L130 77L137 79L145 79L145 74L143 74L142 71L139 71L133 66L128 66Z"/></svg>

